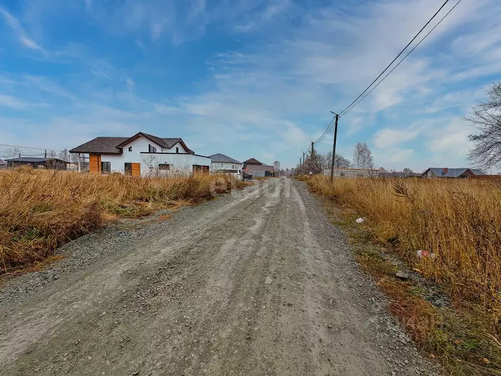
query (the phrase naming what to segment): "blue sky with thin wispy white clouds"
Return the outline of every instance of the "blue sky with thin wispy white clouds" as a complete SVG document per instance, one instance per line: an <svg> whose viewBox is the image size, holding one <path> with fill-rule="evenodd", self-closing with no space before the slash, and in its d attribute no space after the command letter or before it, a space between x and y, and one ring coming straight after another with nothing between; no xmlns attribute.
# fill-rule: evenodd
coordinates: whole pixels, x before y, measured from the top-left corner
<svg viewBox="0 0 501 376"><path fill-rule="evenodd" d="M442 3L0 0L0 144L142 131L292 167ZM337 151L360 141L387 169L467 167L461 117L501 77L499 14L498 0L462 0L340 118Z"/></svg>

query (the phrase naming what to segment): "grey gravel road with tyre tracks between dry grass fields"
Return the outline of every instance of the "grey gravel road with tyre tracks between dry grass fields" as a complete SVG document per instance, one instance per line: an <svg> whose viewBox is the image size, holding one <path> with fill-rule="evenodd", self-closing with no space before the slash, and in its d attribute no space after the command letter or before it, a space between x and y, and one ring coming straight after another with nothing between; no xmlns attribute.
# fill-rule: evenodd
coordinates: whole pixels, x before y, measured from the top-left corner
<svg viewBox="0 0 501 376"><path fill-rule="evenodd" d="M0 289L1 375L441 374L293 179L60 252Z"/></svg>

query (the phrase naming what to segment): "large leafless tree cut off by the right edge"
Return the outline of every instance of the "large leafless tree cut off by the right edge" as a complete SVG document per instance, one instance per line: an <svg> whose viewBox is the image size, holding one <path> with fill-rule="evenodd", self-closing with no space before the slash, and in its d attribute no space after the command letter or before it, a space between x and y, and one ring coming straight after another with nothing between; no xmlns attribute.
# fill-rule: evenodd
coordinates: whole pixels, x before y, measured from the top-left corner
<svg viewBox="0 0 501 376"><path fill-rule="evenodd" d="M478 167L501 167L501 82L487 90L488 100L472 108L470 116L463 118L478 132L468 135L473 142L468 158Z"/></svg>

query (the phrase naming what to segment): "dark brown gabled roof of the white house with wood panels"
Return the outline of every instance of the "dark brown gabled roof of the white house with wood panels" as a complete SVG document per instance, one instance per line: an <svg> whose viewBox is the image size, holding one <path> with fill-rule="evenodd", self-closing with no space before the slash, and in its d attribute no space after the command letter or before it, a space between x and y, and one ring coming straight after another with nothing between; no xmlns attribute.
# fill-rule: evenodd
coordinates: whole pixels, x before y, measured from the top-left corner
<svg viewBox="0 0 501 376"><path fill-rule="evenodd" d="M80 146L75 147L74 149L71 149L70 153L120 154L122 152L122 147L141 136L166 149L170 149L179 142L188 153L194 154L194 151L189 149L180 137L162 138L143 132L138 132L132 137L96 137Z"/></svg>

